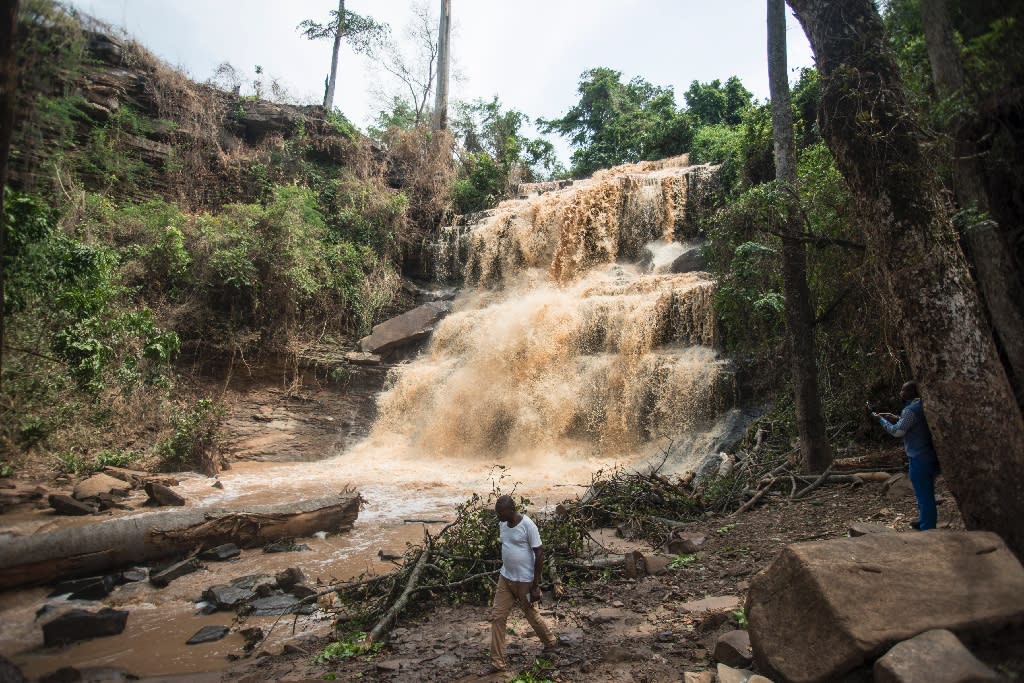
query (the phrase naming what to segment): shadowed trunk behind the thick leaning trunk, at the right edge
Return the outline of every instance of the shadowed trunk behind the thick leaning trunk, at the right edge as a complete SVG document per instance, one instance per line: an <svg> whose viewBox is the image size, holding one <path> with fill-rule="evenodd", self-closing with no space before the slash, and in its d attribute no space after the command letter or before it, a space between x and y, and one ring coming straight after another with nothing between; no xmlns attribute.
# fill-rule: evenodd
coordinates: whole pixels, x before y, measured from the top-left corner
<svg viewBox="0 0 1024 683"><path fill-rule="evenodd" d="M964 69L949 20L948 0L922 0L921 17L936 94L940 99L961 97ZM965 134L964 123L964 117L957 116L950 131L954 140L949 151L953 160L953 191L962 209L974 208L986 215L986 220L971 226L965 233L968 254L996 342L1009 366L1018 405L1024 405L1024 291L1010 247L991 219L979 148Z"/></svg>

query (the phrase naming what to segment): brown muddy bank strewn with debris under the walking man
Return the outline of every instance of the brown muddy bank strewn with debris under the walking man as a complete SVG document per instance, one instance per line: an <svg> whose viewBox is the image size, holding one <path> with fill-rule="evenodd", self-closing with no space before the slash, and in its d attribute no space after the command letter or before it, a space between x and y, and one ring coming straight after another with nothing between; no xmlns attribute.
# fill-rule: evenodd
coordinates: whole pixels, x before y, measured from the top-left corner
<svg viewBox="0 0 1024 683"><path fill-rule="evenodd" d="M962 527L944 482L939 482L942 527ZM683 672L713 668L717 637L737 627L728 601L714 611L686 611L688 602L745 599L750 579L788 543L845 536L851 521L884 524L914 532L913 495L897 485L833 485L798 502L779 501L738 516L710 516L690 530L707 537L703 549L685 566L665 575L628 579L607 570L593 583L546 595L542 614L562 635L566 647L541 656L541 643L517 610L509 621L509 673L486 675L489 614L486 606L418 605L402 618L390 642L373 656L333 665L313 664L330 640L298 642L289 654L241 663L220 680L262 681L679 681ZM626 551L633 546L610 541ZM643 549L645 554L655 552ZM301 648L302 651L299 651ZM535 677L525 678L526 675Z"/></svg>

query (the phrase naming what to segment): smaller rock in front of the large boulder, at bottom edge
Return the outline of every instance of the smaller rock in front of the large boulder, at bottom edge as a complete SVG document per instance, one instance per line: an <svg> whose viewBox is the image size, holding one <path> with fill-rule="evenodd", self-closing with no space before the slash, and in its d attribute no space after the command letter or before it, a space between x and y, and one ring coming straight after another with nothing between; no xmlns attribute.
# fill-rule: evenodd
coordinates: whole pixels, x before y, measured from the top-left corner
<svg viewBox="0 0 1024 683"><path fill-rule="evenodd" d="M983 665L949 631L904 640L874 663L876 683L982 683L1002 677Z"/></svg>

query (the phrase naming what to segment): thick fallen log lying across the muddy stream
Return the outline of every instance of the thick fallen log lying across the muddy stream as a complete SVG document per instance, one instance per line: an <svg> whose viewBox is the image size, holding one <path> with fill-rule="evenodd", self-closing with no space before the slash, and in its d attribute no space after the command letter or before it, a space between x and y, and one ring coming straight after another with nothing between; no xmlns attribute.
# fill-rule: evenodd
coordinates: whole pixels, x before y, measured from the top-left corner
<svg viewBox="0 0 1024 683"><path fill-rule="evenodd" d="M225 510L178 508L105 519L95 524L0 539L0 590L98 573L233 543L345 531L359 513L359 495Z"/></svg>

